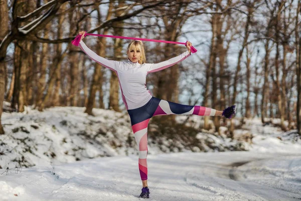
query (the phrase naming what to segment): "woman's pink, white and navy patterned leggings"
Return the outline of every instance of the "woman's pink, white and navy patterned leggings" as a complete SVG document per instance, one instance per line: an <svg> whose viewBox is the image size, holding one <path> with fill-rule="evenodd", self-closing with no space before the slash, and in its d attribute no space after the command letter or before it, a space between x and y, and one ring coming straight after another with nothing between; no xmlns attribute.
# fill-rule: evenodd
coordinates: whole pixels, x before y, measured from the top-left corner
<svg viewBox="0 0 301 201"><path fill-rule="evenodd" d="M215 110L202 106L186 106L152 97L144 106L128 110L132 130L139 150L139 171L141 180L147 179L147 125L149 119L158 115L214 116Z"/></svg>

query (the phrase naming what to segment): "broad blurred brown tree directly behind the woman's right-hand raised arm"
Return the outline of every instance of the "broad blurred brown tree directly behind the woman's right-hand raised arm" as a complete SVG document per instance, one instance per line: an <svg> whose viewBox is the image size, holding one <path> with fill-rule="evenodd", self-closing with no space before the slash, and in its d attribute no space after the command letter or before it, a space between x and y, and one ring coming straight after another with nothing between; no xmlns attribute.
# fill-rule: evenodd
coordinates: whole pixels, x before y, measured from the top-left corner
<svg viewBox="0 0 301 201"><path fill-rule="evenodd" d="M162 20L164 27L161 29L164 40L177 41L182 34L182 27L191 16L188 12L189 1L181 0L166 4L165 7L154 11L157 15L163 15ZM165 44L163 52L163 60L177 56L180 48L175 45ZM176 64L172 68L157 72L157 84L155 86L155 95L158 98L178 102L179 89L178 80L180 75L180 65ZM172 117L170 117L172 118Z"/></svg>

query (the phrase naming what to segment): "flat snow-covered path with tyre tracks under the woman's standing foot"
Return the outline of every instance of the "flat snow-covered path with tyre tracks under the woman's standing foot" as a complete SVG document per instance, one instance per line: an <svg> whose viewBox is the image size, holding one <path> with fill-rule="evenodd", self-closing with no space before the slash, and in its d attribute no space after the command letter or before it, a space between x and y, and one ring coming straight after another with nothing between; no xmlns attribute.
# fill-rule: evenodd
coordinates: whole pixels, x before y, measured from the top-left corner
<svg viewBox="0 0 301 201"><path fill-rule="evenodd" d="M4 173L0 176L0 200L139 200L137 156L98 158L53 167ZM149 200L300 200L300 174L298 155L148 155Z"/></svg>

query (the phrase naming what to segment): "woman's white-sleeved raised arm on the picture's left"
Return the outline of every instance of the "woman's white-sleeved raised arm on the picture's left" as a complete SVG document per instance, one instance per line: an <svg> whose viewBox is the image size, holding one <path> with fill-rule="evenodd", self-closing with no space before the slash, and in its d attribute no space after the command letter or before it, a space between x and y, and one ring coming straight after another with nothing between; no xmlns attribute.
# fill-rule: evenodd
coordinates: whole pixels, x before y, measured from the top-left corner
<svg viewBox="0 0 301 201"><path fill-rule="evenodd" d="M91 59L96 61L97 63L101 64L102 66L109 68L111 70L116 71L119 61L113 61L105 59L99 55L97 55L95 52L93 52L91 49L89 49L86 44L81 40L78 45Z"/></svg>

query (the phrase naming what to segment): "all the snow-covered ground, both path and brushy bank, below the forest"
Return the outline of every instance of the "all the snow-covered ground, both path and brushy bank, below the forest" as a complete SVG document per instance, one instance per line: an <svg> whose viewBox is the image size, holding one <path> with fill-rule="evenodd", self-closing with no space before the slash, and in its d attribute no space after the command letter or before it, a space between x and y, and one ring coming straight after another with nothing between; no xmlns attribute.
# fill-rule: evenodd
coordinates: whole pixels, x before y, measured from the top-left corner
<svg viewBox="0 0 301 201"><path fill-rule="evenodd" d="M93 110L91 117L83 111L57 107L40 113L27 108L3 114L7 134L0 136L0 200L139 199L138 156L129 118L107 110ZM202 125L201 117L192 117L186 125ZM150 124L150 129L156 126ZM301 199L301 140L293 131L283 133L255 119L235 131L237 140L225 136L198 133L206 153L181 143L169 151L171 142L163 143L163 149L149 139L150 200ZM252 143L239 140L246 136ZM227 151L237 144L248 151Z"/></svg>

